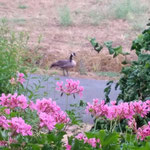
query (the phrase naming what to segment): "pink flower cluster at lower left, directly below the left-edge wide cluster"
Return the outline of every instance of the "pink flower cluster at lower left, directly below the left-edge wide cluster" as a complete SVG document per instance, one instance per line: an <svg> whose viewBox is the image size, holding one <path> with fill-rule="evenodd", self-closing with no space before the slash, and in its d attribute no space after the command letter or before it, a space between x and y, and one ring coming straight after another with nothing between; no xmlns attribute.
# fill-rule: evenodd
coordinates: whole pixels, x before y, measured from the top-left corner
<svg viewBox="0 0 150 150"><path fill-rule="evenodd" d="M26 124L21 117L13 117L11 120L8 120L9 128L20 133L23 136L32 135L31 126Z"/></svg>

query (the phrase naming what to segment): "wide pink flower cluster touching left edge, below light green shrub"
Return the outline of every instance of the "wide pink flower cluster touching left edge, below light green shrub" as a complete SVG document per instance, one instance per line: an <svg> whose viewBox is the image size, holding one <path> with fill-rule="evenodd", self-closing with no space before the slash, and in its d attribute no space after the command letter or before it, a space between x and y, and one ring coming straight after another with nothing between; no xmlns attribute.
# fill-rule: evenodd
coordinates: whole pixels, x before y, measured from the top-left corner
<svg viewBox="0 0 150 150"><path fill-rule="evenodd" d="M0 97L0 105L8 108L20 107L22 109L26 109L28 107L26 97L24 95L17 95L17 93L14 95L2 94Z"/></svg>

